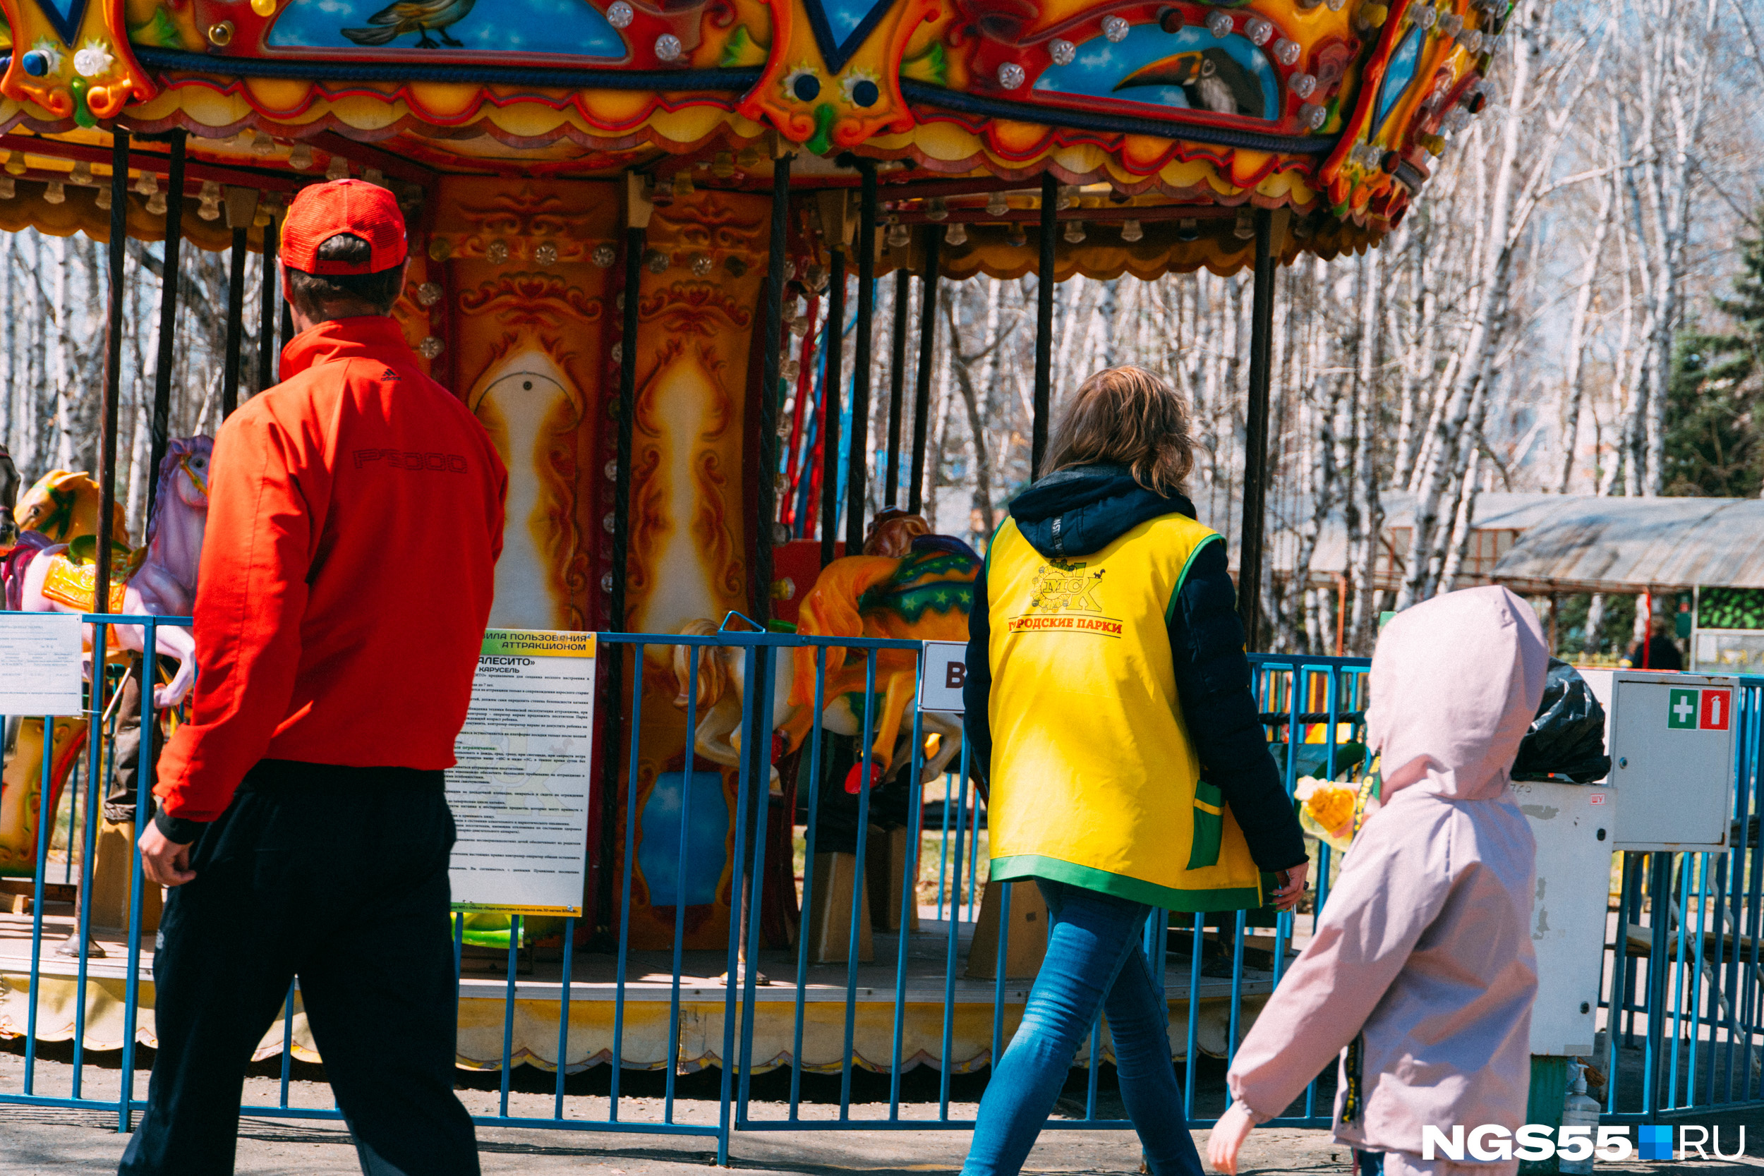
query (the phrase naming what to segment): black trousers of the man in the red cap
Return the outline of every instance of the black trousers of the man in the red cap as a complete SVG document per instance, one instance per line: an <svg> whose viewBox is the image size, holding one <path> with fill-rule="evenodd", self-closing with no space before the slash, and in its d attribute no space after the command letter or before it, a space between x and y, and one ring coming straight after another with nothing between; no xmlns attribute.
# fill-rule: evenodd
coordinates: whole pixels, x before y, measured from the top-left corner
<svg viewBox="0 0 1764 1176"><path fill-rule="evenodd" d="M441 772L265 760L198 841L153 957L159 1054L120 1172L228 1176L289 980L369 1176L476 1176L453 1095Z"/></svg>

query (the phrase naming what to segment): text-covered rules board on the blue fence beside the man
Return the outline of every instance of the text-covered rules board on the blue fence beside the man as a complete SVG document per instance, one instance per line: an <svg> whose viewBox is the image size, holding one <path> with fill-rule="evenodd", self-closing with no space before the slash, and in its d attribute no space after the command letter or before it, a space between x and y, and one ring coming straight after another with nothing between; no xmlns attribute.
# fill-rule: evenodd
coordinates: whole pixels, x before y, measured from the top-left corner
<svg viewBox="0 0 1764 1176"><path fill-rule="evenodd" d="M490 629L446 774L453 906L580 915L594 635Z"/></svg>

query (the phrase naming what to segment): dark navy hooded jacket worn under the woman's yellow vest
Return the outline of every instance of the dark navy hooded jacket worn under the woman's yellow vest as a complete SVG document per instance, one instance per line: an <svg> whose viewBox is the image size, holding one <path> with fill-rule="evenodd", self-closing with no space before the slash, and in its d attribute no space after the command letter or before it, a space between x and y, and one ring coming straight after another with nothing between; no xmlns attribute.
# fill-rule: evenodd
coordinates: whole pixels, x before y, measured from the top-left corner
<svg viewBox="0 0 1764 1176"><path fill-rule="evenodd" d="M1120 465L1062 469L1011 502L1018 531L1048 557L1088 555L1148 518L1178 513L1194 518L1194 504L1180 495L1152 494ZM983 776L991 763L990 633L986 569L981 568L968 612L963 705L974 763ZM1224 543L1207 543L1194 555L1177 592L1177 608L1170 610L1170 652L1201 778L1224 793L1256 866L1277 871L1305 860L1304 834L1249 689L1244 624L1226 571ZM1132 732L1120 732L1120 737L1131 739Z"/></svg>

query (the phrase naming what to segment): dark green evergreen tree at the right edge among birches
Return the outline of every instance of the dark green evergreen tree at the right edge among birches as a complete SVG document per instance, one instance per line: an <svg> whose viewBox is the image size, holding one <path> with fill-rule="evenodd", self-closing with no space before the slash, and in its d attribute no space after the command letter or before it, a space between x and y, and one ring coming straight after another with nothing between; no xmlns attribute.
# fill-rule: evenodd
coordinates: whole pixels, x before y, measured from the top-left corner
<svg viewBox="0 0 1764 1176"><path fill-rule="evenodd" d="M1683 331L1667 390L1667 494L1757 497L1764 488L1764 234L1745 242L1725 333Z"/></svg>

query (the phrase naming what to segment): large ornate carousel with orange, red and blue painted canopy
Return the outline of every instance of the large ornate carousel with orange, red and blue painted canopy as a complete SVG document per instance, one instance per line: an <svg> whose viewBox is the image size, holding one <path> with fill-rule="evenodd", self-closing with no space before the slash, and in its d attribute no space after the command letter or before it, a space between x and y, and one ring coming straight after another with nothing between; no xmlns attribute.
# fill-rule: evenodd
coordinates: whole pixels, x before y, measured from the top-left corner
<svg viewBox="0 0 1764 1176"><path fill-rule="evenodd" d="M711 654L688 665L665 635L714 633L741 614L813 635L965 638L960 587L972 580L975 557L958 540L924 534L917 517L938 284L1037 277L1039 467L1055 282L1074 273L1252 270L1237 571L1240 584L1256 584L1274 266L1307 252L1376 247L1401 222L1448 136L1489 100L1484 76L1508 9L1492 0L0 7L0 227L108 242L113 291L123 284L125 236L164 242L166 273L178 272L183 249L229 250L222 404L231 411L252 383L242 372L256 365L254 386L273 383L289 333L273 257L291 194L340 176L388 187L413 242L395 317L429 372L483 421L510 471L490 624L663 635L637 656L640 675L637 658L607 645L596 702L596 770L607 786L591 815L587 894L572 942L556 929L545 938L543 926L513 936L517 950L531 949L515 1001L520 1016L505 1009L501 980L487 979L476 993L469 971L462 979L460 1065L508 1058L568 1070L610 1060L720 1063L723 982L711 977L721 971L713 949L727 942L732 910L741 908L730 885L739 753L727 741L732 728L716 730L709 718L725 702L718 688L729 675ZM261 284L263 303L250 316L258 328L247 335L250 254L261 254L272 280ZM875 291L887 273L901 289L923 284L923 321L896 321L889 428L870 437L871 398L884 395L871 388ZM159 323L125 321L120 294L111 298L99 467L58 471L18 499L18 534L0 534L7 608L108 599L111 612L189 612L208 443L168 437L173 397L185 395L171 386L168 361L178 347L176 298L176 284L168 284ZM161 476L150 522L122 518L115 506L127 331L157 331L161 356L152 414L152 469ZM926 358L912 388L900 376L908 335ZM896 510L880 518L866 513L871 462L889 471L887 487L900 485L903 462L912 467L905 501L891 490L887 506ZM136 541L141 547L131 547ZM116 559L95 557L111 550ZM953 587L954 603L900 605L926 585L949 585L938 599ZM1254 649L1258 594L1242 596ZM161 652L180 652L178 633L161 629ZM168 716L189 686L185 668L168 666L155 688ZM106 702L97 677L93 714ZM804 674L796 677L801 686ZM699 689L695 732L688 679ZM847 688L829 677L829 695L834 689ZM864 691L863 674L854 689ZM900 778L900 732L914 730L910 674L903 689L870 689L878 700L873 728L857 742L875 744L878 781L889 769ZM739 698L734 707L739 716ZM34 1005L35 1037L65 1038L79 1019L86 1047L115 1049L125 1023L116 929L131 906L132 827L95 822L86 836L88 848L97 846L92 878L44 896L88 904L106 956L81 957L78 973L72 963L44 963L41 1000L28 1000L30 919L16 899L37 867L42 815L56 813L69 765L92 749L83 721L56 721L53 733L42 719L18 726L0 793L0 889L19 912L0 915L12 920L0 929L0 1035L25 1033L23 1010ZM709 800L684 813L679 778L690 739L697 778L707 785L695 795ZM757 1063L783 1065L801 1051L808 1068L838 1070L854 1058L886 1067L889 1033L900 1031L896 989L907 986L907 1035L916 1040L908 1053L946 1070L984 1065L995 1037L993 973L975 961L990 947L974 949L967 963L968 977L988 982L963 979L947 989L954 1033L938 1038L930 1026L944 1017L951 977L940 949L910 950L914 936L931 931L916 931L910 912L903 926L889 903L877 903L850 942L863 940L859 956L882 963L850 961L852 917L841 919L831 899L822 910L818 896L811 910L799 908L790 860L799 739L780 730L773 742L785 802L771 806L762 834L776 852L759 896L764 943L753 950L771 979L794 991L806 936L810 964L840 964L827 982L838 1001L818 1021L811 1003L810 1033L797 1028L792 1038L792 1003L762 996ZM946 762L958 744L953 728L942 739ZM92 763L101 758L92 755ZM926 774L940 781L937 767ZM150 779L150 762L145 772ZM635 783L626 788L626 779ZM917 786L905 781L901 792ZM660 800L653 811L651 800ZM646 827L651 816L665 837ZM695 823L691 845L704 852L676 878L679 862L644 846L667 843L683 822ZM900 867L903 832L884 823L843 834L873 846L868 878L852 876L850 846L831 832L822 848L834 852L803 869L843 903L854 890L898 892L903 882L889 871ZM139 904L148 926L138 934L150 934L155 903L146 896ZM954 910L949 917L960 919ZM967 919L979 924L977 943L998 940L997 915L990 933L974 903ZM670 1012L677 927L688 980L684 1007ZM1014 924L1005 938L1013 933ZM490 947L510 940L506 922L475 934ZM630 954L617 1005L609 945L619 945L617 959ZM706 959L695 963L695 952ZM1014 977L1014 945L1009 954ZM896 980L893 959L903 956L914 963ZM554 1028L559 957L573 959L573 980L563 971L563 984L573 984L566 1033ZM857 1000L856 1038L836 1024L845 963L873 968L859 987L875 1005ZM1021 968L1032 975L1034 961ZM656 991L642 996L649 980ZM1016 1001L1027 984L1013 980ZM1235 1026L1237 1017L1224 1001L1252 1003L1272 984L1212 987L1219 1009L1208 1024L1217 1023L1222 1042L1226 1019ZM626 1003L626 989L639 996ZM1184 977L1173 1017L1187 1017L1187 1001ZM136 1023L148 1044L150 1005L148 975ZM767 1010L778 1016L767 1019ZM910 1010L923 1010L926 1024L910 1023ZM1208 1040L1203 1033L1203 1049ZM298 1014L263 1053L284 1042L312 1056Z"/></svg>

